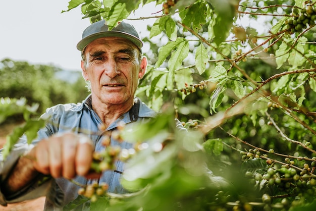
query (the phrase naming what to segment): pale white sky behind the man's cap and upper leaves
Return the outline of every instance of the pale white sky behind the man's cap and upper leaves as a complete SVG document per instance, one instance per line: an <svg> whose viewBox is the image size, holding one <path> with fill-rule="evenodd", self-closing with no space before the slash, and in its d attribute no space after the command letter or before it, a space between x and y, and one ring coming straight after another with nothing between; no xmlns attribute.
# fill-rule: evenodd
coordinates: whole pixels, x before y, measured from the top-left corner
<svg viewBox="0 0 316 211"><path fill-rule="evenodd" d="M80 52L76 45L82 31L90 25L82 19L81 8L67 10L68 0L14 0L0 2L0 61L9 58L30 64L54 65L64 70L80 69ZM135 16L147 17L159 11L155 5L145 5ZM147 24L154 19L133 21L141 37ZM128 21L127 21L128 22Z"/></svg>

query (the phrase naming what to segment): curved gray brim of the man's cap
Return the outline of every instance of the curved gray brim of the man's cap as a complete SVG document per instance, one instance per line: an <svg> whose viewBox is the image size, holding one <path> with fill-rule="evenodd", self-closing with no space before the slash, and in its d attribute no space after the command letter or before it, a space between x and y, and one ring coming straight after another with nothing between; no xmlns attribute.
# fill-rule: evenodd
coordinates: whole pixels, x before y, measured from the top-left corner
<svg viewBox="0 0 316 211"><path fill-rule="evenodd" d="M142 41L135 36L132 36L132 35L124 33L124 32L106 31L106 32L95 33L95 34L92 34L90 36L83 38L82 40L80 40L78 42L77 49L82 51L90 42L92 42L93 40L96 40L98 38L101 38L101 37L121 37L121 38L125 38L125 39L130 40L139 48L141 48L143 46Z"/></svg>

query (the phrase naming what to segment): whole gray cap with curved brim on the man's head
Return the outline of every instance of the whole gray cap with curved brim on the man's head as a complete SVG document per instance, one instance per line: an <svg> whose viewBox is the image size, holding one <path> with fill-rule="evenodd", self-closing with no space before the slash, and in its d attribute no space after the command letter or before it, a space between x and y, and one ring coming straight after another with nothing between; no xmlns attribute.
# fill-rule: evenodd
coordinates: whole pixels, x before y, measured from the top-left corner
<svg viewBox="0 0 316 211"><path fill-rule="evenodd" d="M133 42L139 49L143 46L143 42L135 28L125 22L120 22L115 28L109 31L105 20L92 23L82 33L82 39L77 44L77 49L82 51L90 42L100 37L122 37Z"/></svg>

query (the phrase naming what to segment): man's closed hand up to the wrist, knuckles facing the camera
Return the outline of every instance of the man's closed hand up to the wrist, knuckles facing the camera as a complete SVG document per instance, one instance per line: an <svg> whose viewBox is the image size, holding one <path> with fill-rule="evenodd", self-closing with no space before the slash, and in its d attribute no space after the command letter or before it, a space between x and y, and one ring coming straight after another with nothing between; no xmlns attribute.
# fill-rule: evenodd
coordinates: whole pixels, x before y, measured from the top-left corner
<svg viewBox="0 0 316 211"><path fill-rule="evenodd" d="M41 140L26 156L33 160L35 170L42 174L74 178L88 174L93 148L88 137L66 133Z"/></svg>

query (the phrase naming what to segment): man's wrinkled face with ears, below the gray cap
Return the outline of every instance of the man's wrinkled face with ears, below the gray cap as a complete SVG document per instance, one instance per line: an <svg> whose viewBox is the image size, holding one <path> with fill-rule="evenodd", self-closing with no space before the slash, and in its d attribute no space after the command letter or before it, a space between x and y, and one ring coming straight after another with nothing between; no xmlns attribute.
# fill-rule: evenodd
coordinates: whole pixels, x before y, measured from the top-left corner
<svg viewBox="0 0 316 211"><path fill-rule="evenodd" d="M91 83L92 100L97 103L133 103L138 79L146 71L146 58L129 40L102 37L90 42L81 62L83 77Z"/></svg>

